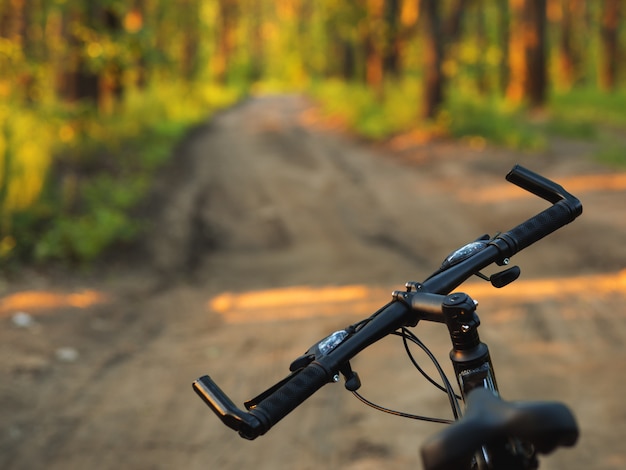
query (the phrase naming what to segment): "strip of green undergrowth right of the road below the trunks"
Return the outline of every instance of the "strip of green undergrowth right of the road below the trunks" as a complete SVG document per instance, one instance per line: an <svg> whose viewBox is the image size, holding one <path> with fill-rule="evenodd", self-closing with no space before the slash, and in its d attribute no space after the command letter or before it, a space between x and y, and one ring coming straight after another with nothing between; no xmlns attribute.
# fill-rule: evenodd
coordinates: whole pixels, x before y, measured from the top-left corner
<svg viewBox="0 0 626 470"><path fill-rule="evenodd" d="M626 166L626 139L619 129L626 125L626 93L607 94L574 90L555 95L542 112L530 113L511 106L503 98L486 97L467 88L454 91L435 123L417 118L419 81L389 82L382 96L361 84L340 80L317 83L312 90L327 116L338 117L350 129L369 139L383 140L419 129L472 145L489 143L506 148L544 149L553 136L596 142L597 159Z"/></svg>

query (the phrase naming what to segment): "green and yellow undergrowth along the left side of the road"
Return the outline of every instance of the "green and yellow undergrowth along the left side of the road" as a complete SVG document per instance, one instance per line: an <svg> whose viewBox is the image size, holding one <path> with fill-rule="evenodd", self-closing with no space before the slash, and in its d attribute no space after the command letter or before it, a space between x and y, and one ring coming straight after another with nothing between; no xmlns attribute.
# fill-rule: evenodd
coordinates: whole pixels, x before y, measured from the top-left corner
<svg viewBox="0 0 626 470"><path fill-rule="evenodd" d="M192 124L238 96L226 88L162 83L129 92L123 112L110 116L61 105L54 112L33 113L22 130L24 141L36 144L47 166L36 173L40 187L27 203L0 201L0 260L83 264L132 242L145 228L134 209L155 172ZM19 149L22 140L14 134L21 135L12 133L10 148ZM59 137L41 138L48 135ZM5 158L13 154L4 152ZM34 184L34 173L29 175L26 182L10 179L13 192L23 194Z"/></svg>

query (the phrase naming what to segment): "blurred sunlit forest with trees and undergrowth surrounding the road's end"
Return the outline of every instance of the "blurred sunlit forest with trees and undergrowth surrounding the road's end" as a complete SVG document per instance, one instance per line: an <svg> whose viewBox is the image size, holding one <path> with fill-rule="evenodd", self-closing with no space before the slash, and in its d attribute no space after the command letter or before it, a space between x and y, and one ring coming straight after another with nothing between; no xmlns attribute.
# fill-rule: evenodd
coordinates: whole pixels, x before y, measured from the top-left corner
<svg viewBox="0 0 626 470"><path fill-rule="evenodd" d="M296 92L368 139L623 165L620 0L0 0L0 262L90 263L194 124Z"/></svg>

